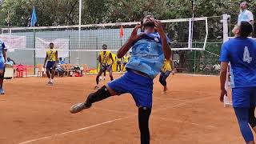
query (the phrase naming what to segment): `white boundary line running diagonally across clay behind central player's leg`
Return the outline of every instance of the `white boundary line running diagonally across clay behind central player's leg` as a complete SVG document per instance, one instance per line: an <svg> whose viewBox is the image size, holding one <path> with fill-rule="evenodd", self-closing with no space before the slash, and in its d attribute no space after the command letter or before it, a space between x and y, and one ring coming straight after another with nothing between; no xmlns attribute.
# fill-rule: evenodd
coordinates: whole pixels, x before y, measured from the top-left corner
<svg viewBox="0 0 256 144"><path fill-rule="evenodd" d="M175 108L177 106L184 106L184 105L192 103L192 102L199 102L199 101L210 99L210 98L214 98L214 97L198 98L198 99L194 99L194 100L178 103L178 104L176 104L174 106L170 106L170 107L166 107L166 108L159 108L158 110L154 110L153 112L157 112L157 111L160 111L160 110L167 110L167 109L170 109L170 108ZM118 122L118 121L121 121L122 119L131 118L131 117L134 117L134 116L137 116L137 115L138 114L134 114L134 115L130 115L130 116L122 117L122 118L117 118L117 119L110 120L110 121L107 121L107 122L98 123L98 124L93 125L93 126L86 126L86 127L81 128L81 129L70 130L70 131L67 131L67 132L64 132L64 133L54 134L54 135L46 136L46 137L43 137L43 138L35 138L35 139L29 140L29 141L26 141L26 142L20 142L18 144L27 144L27 143L30 143L30 142L37 142L37 141L40 141L40 140L43 140L43 139L53 138L53 137L64 135L64 134L70 134L70 133L74 133L74 132L78 132L78 131L82 131L82 130L88 130L90 128L106 125L106 124L112 123L112 122Z"/></svg>

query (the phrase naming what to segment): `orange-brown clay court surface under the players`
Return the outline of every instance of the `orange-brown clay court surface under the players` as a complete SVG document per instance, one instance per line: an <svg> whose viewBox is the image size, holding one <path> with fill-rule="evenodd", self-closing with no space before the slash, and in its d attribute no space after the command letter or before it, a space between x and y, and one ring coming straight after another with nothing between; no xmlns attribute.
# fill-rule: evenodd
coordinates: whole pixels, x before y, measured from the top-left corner
<svg viewBox="0 0 256 144"><path fill-rule="evenodd" d="M70 114L71 105L94 92L95 77L56 78L54 86L47 86L46 78L6 81L6 94L0 96L0 143L140 143L138 111L130 94ZM218 101L218 77L174 75L168 84L164 95L158 78L154 81L151 143L244 143L233 109Z"/></svg>

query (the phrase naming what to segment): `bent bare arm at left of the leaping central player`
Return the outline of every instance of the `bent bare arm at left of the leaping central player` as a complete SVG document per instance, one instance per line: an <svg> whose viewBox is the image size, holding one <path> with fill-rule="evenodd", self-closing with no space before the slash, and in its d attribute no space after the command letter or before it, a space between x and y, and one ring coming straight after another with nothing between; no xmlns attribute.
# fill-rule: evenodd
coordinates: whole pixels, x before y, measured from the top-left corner
<svg viewBox="0 0 256 144"><path fill-rule="evenodd" d="M136 25L134 27L134 30L130 34L128 41L118 50L118 58L122 58L128 52L128 50L130 50L130 47L133 46L134 42L142 37L143 34L137 34L140 27L141 25Z"/></svg>

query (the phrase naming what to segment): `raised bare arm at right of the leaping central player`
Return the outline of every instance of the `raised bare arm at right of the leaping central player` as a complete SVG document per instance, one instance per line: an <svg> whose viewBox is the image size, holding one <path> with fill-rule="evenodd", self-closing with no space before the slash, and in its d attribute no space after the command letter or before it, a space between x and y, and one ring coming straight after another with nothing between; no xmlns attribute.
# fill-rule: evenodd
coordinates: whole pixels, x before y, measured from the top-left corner
<svg viewBox="0 0 256 144"><path fill-rule="evenodd" d="M158 31L158 34L162 39L162 50L163 50L163 53L165 54L165 58L170 59L171 50L167 42L166 33L162 28L162 23L156 21L154 25L155 25L154 29Z"/></svg>

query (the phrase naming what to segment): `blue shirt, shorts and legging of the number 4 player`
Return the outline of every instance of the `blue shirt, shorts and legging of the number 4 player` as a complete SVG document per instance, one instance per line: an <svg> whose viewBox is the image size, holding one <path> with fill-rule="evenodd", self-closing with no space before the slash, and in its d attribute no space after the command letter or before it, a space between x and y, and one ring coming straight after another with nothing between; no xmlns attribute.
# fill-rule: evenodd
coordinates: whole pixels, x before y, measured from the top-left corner
<svg viewBox="0 0 256 144"><path fill-rule="evenodd" d="M244 140L254 141L248 123L256 126L249 117L256 106L256 42L250 38L231 38L222 45L220 62L230 62L230 85L234 112ZM252 110L254 115L254 109Z"/></svg>

